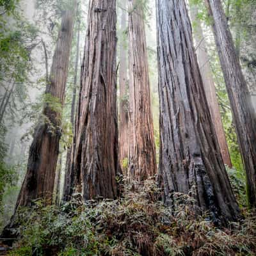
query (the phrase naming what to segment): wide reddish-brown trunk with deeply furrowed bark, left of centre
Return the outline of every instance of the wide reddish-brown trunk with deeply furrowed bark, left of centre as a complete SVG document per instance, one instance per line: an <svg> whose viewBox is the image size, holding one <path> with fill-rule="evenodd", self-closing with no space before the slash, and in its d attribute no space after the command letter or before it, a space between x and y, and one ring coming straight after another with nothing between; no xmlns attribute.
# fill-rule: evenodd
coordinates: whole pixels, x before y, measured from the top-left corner
<svg viewBox="0 0 256 256"><path fill-rule="evenodd" d="M116 115L116 1L92 0L81 70L70 191L84 200L116 197L118 172Z"/></svg>

